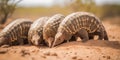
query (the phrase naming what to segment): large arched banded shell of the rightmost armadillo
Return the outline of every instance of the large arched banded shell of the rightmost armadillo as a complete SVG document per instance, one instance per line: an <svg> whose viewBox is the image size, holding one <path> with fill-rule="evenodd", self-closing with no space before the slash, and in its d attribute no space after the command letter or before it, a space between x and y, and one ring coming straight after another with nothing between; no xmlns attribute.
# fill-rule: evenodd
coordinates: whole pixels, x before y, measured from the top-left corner
<svg viewBox="0 0 120 60"><path fill-rule="evenodd" d="M91 13L76 12L68 15L61 22L58 31L66 31L75 34L81 28L86 29L89 33L95 32L101 26L101 21Z"/></svg>

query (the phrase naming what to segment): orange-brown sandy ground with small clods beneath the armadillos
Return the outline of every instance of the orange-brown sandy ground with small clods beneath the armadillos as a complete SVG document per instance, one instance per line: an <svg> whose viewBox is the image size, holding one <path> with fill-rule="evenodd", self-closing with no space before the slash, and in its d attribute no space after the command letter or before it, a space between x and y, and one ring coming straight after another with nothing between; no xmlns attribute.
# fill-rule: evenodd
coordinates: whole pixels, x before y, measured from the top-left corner
<svg viewBox="0 0 120 60"><path fill-rule="evenodd" d="M120 60L120 26L104 22L109 41L74 41L47 46L0 47L0 60Z"/></svg>

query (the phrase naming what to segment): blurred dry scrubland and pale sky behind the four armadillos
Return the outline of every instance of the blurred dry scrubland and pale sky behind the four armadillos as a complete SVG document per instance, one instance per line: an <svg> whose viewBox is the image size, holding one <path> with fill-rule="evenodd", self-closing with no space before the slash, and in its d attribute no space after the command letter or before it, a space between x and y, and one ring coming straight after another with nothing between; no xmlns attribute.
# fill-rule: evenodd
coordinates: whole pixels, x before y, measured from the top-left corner
<svg viewBox="0 0 120 60"><path fill-rule="evenodd" d="M36 20L57 13L94 13L102 21L120 26L120 0L0 0L0 25L17 18Z"/></svg>

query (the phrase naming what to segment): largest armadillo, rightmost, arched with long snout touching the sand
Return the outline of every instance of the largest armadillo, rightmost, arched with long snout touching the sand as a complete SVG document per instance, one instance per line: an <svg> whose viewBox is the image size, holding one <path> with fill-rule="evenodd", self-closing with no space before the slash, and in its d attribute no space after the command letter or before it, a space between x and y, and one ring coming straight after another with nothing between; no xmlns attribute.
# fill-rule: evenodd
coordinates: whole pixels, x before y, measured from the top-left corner
<svg viewBox="0 0 120 60"><path fill-rule="evenodd" d="M86 41L94 35L98 35L100 40L108 40L106 30L96 16L87 12L72 13L59 25L52 47L64 40L70 40L71 36L80 37Z"/></svg>

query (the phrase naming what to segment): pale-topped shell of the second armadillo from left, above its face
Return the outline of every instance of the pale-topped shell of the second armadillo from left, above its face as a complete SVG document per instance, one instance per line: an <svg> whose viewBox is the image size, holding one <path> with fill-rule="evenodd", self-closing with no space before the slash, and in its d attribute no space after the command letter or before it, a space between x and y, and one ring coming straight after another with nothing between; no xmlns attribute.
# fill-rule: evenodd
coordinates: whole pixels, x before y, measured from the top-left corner
<svg viewBox="0 0 120 60"><path fill-rule="evenodd" d="M33 22L28 32L28 40L32 39L32 36L38 34L43 35L43 26L48 21L49 17L41 17Z"/></svg>

